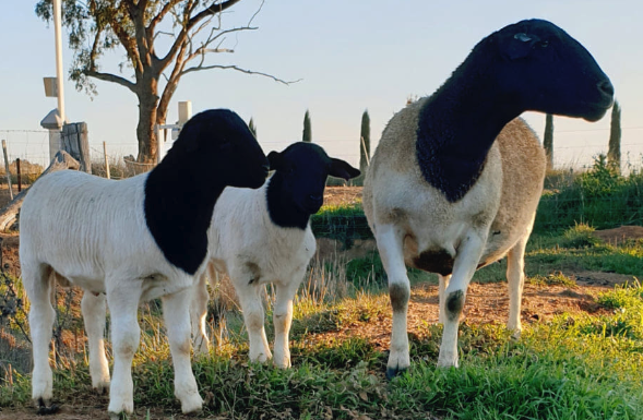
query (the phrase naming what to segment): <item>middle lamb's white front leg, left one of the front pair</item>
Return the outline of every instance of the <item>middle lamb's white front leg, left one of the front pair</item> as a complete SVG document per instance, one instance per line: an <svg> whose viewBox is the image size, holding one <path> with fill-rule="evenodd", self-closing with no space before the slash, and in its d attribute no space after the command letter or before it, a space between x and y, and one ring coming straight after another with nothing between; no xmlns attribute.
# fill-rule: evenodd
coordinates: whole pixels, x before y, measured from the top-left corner
<svg viewBox="0 0 643 420"><path fill-rule="evenodd" d="M236 277L236 278L246 278ZM265 336L264 310L261 302L261 295L264 290L263 286L257 285L255 281L235 283L235 289L239 296L241 310L243 311L243 322L246 329L248 329L248 339L250 341L250 360L264 362L272 358L267 338Z"/></svg>

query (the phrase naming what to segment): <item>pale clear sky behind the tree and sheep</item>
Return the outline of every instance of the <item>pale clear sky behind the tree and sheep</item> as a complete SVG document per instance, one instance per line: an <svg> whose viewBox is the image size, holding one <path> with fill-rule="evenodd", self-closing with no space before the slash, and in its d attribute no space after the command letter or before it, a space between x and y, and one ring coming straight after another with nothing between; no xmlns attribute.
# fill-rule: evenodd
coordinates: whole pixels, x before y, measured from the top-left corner
<svg viewBox="0 0 643 420"><path fill-rule="evenodd" d="M4 0L8 1L9 0ZM53 26L34 13L35 1L11 0L0 14L0 139L10 158L48 159L40 120L57 107L45 97L44 76L56 75ZM224 26L248 22L261 0L242 0L223 17ZM178 119L178 101L193 112L229 108L253 118L267 154L301 140L303 115L312 121L313 142L353 165L359 160L361 113L371 119L371 144L407 98L433 93L490 33L523 19L545 19L583 44L609 75L621 105L624 165L643 159L643 2L640 0L430 1L430 0L265 0L255 31L233 34L229 55L212 63L234 63L273 74L290 85L231 70L186 75L169 107L167 123ZM67 46L67 33L63 45ZM163 52L163 48L159 48ZM102 70L119 72L124 51L107 56ZM73 60L63 49L67 75ZM121 74L121 73L119 73ZM123 76L130 76L124 70ZM94 98L66 79L66 110L71 122L85 121L93 157L106 142L108 155L136 154L136 97L119 85L96 81ZM545 116L524 115L541 137ZM606 152L609 112L590 123L555 117L555 164L592 165Z"/></svg>

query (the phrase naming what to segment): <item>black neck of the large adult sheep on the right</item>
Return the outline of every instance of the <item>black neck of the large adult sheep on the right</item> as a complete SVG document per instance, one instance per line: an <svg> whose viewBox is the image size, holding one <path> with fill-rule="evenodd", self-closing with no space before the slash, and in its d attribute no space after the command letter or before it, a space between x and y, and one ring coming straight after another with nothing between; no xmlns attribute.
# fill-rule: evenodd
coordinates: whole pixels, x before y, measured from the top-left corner
<svg viewBox="0 0 643 420"><path fill-rule="evenodd" d="M417 128L422 175L452 203L476 183L496 137L522 112L517 98L500 93L493 77L469 61L422 105Z"/></svg>

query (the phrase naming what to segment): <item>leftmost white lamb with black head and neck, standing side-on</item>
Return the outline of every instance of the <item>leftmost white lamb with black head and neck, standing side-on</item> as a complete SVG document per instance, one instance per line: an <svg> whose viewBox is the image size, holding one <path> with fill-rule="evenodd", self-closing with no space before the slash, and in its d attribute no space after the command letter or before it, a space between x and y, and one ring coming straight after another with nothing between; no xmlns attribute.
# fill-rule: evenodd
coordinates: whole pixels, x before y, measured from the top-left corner
<svg viewBox="0 0 643 420"><path fill-rule="evenodd" d="M55 280L82 287L92 385L109 387L108 411L131 413L131 364L140 341L140 302L162 298L183 412L202 399L190 364L191 287L204 271L207 228L226 185L259 188L267 159L246 123L226 109L207 110L183 127L151 172L121 181L78 171L39 179L21 213L20 261L31 300L32 396L52 397L48 352ZM111 313L114 376L103 343L106 301Z"/></svg>

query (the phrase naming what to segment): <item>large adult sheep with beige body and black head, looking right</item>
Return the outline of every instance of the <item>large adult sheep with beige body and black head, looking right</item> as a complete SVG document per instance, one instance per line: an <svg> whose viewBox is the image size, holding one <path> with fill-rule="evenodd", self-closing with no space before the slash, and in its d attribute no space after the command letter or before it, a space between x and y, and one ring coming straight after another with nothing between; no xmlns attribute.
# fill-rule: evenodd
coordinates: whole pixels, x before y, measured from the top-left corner
<svg viewBox="0 0 643 420"><path fill-rule="evenodd" d="M479 41L431 96L386 124L364 187L364 209L389 278L386 375L410 364L405 265L440 276L439 367L457 367L457 328L477 268L508 255L508 328L521 331L523 255L545 156L522 119L534 110L600 119L614 87L563 29L522 21Z"/></svg>

